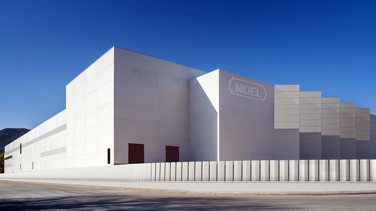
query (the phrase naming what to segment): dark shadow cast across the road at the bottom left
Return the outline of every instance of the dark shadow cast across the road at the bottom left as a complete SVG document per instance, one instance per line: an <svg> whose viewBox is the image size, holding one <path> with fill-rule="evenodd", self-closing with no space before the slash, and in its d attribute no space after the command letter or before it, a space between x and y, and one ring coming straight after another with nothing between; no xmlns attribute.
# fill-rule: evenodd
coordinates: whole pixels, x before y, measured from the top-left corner
<svg viewBox="0 0 376 211"><path fill-rule="evenodd" d="M208 209L299 209L293 206L271 205L271 201L252 202L246 198L239 202L230 197L158 197L134 199L129 196L61 196L36 199L0 199L0 210L208 210ZM274 201L274 204L280 204Z"/></svg>

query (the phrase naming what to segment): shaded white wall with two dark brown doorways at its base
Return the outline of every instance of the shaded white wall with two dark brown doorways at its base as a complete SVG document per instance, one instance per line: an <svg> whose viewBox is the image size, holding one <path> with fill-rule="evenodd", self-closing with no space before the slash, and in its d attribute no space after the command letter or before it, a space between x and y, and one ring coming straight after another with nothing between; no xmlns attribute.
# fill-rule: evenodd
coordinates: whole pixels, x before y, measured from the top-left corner
<svg viewBox="0 0 376 211"><path fill-rule="evenodd" d="M115 161L128 163L128 143L144 144L145 162L164 162L165 146L189 161L189 80L206 72L114 48Z"/></svg>

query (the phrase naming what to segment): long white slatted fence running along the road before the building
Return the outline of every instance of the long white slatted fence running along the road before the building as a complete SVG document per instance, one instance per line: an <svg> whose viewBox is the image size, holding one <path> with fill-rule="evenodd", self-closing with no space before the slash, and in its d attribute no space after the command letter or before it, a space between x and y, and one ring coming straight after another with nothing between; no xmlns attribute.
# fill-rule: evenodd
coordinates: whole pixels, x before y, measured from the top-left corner
<svg viewBox="0 0 376 211"><path fill-rule="evenodd" d="M1 174L0 178L129 181L376 181L376 160L142 163Z"/></svg>

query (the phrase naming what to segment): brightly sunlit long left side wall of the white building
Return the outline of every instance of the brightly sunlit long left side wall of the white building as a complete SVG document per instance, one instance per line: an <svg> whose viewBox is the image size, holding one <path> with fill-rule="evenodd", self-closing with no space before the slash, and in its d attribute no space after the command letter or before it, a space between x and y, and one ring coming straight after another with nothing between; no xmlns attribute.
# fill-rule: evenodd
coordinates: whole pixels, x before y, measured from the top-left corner
<svg viewBox="0 0 376 211"><path fill-rule="evenodd" d="M108 165L108 148L114 163L114 48L67 84L65 110L5 151L17 147L5 161L6 172Z"/></svg>

